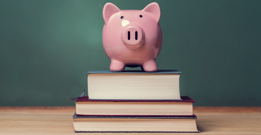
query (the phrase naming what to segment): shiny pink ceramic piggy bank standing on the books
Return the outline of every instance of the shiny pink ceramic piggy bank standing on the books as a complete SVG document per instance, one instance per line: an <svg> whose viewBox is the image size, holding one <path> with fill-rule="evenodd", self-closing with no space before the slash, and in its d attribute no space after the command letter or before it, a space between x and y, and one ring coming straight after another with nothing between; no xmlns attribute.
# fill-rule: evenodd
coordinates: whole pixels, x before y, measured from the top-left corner
<svg viewBox="0 0 261 135"><path fill-rule="evenodd" d="M120 10L106 3L102 15L102 44L111 60L110 70L140 66L145 72L158 71L156 58L162 47L159 4L150 3L143 10Z"/></svg>

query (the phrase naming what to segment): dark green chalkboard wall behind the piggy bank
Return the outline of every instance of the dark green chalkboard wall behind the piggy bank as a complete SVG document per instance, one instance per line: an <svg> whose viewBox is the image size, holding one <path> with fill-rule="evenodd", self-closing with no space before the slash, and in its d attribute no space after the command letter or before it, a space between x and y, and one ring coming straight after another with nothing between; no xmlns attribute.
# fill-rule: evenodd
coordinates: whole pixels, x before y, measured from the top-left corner
<svg viewBox="0 0 261 135"><path fill-rule="evenodd" d="M109 70L107 2L122 10L159 3L158 67L182 72L180 93L195 106L261 106L260 0L0 1L0 106L75 105L67 98L82 93L87 72Z"/></svg>

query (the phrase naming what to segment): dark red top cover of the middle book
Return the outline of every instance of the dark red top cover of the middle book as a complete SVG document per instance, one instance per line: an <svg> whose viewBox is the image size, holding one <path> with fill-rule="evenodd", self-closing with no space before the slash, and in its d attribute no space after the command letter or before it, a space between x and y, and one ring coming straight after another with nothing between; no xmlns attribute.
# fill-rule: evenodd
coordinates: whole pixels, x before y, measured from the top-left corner
<svg viewBox="0 0 261 135"><path fill-rule="evenodd" d="M182 100L88 100L88 96L83 96L76 99L76 102L187 102L194 103L195 101L189 96L180 96Z"/></svg>

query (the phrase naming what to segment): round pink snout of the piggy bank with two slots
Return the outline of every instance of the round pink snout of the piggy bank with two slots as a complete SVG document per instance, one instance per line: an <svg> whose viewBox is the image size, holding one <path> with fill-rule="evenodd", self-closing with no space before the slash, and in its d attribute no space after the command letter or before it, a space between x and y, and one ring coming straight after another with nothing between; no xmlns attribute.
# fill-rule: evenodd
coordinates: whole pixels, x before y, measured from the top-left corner
<svg viewBox="0 0 261 135"><path fill-rule="evenodd" d="M129 26L123 33L123 43L128 48L138 48L144 42L144 34L138 26Z"/></svg>

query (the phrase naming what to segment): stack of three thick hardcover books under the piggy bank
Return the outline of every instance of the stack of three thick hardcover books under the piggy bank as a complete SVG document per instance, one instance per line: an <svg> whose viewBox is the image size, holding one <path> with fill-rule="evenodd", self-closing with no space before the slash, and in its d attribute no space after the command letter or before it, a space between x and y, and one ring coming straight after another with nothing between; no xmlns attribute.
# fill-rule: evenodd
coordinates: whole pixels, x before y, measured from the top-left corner
<svg viewBox="0 0 261 135"><path fill-rule="evenodd" d="M88 96L76 99L75 132L200 133L177 70L89 71Z"/></svg>

